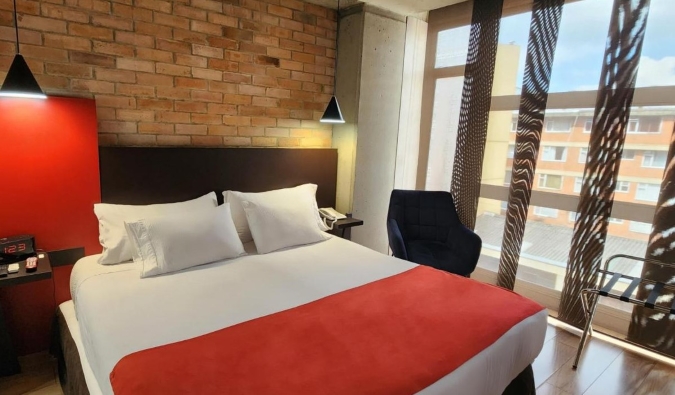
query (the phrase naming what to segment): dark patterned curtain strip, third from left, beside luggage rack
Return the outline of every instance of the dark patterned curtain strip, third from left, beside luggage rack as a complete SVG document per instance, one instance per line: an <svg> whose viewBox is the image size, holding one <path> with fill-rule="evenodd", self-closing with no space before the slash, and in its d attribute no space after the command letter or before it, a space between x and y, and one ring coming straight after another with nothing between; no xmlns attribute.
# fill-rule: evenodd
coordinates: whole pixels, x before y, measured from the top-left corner
<svg viewBox="0 0 675 395"><path fill-rule="evenodd" d="M648 13L649 0L614 1L558 317L579 328L579 294L595 284L607 238Z"/></svg>

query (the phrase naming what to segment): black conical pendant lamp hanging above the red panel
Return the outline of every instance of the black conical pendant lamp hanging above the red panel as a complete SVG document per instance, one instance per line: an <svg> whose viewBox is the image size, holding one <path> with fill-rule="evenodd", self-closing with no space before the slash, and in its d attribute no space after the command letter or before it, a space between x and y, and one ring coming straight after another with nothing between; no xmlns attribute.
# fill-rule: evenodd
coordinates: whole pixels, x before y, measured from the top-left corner
<svg viewBox="0 0 675 395"><path fill-rule="evenodd" d="M9 66L5 82L0 88L0 97L23 97L46 99L40 85L30 71L26 60L19 53L19 23L16 16L16 0L14 0L14 28L16 29L16 55Z"/></svg>

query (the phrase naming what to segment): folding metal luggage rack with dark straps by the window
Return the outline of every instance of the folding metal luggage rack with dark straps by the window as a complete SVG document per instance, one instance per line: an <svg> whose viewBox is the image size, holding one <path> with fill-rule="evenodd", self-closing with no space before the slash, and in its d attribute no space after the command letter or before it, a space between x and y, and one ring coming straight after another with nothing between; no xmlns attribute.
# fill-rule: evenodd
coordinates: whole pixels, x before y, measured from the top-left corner
<svg viewBox="0 0 675 395"><path fill-rule="evenodd" d="M606 261L605 264L603 265L602 269L599 269L597 271L597 274L600 275L600 282L599 282L599 288L586 288L581 290L581 303L584 308L584 314L586 315L586 326L584 327L584 332L581 335L581 339L579 341L579 348L577 349L577 356L574 359L574 364L572 365L572 369L576 369L577 365L579 364L579 358L581 358L581 352L584 349L584 346L586 344L586 339L588 336L593 336L593 317L595 316L595 309L598 307L598 300L600 299L600 296L620 300L622 302L626 303L632 303L637 306L643 306L647 307L649 309L659 311L664 314L675 314L675 299L673 300L673 304L670 306L670 309L663 307L663 306L658 306L656 304L656 299L661 296L661 293L663 292L664 289L670 290L675 292L675 285L669 285L666 283L654 281L654 280L649 280L646 278L639 278L639 277L633 277L633 276L628 276L623 273L617 273L617 272L610 272L609 269L609 264L611 261L619 258L624 258L624 259L630 259L634 261L640 261L644 263L650 263L654 265L659 265L661 267L670 267L675 269L675 264L672 263L665 263L661 261L656 261L653 259L644 259L644 258L638 258L630 255L623 255L623 254L618 254L618 255L612 255L609 257ZM605 279L609 276L609 281L607 284L605 284ZM612 293L612 288L616 285L616 283L620 279L626 279L630 280L630 284L626 288L626 290L619 294L619 293ZM646 300L640 300L640 299L635 299L631 295L637 289L637 287L640 284L652 284L653 288L651 292L649 293L649 296L647 297Z"/></svg>

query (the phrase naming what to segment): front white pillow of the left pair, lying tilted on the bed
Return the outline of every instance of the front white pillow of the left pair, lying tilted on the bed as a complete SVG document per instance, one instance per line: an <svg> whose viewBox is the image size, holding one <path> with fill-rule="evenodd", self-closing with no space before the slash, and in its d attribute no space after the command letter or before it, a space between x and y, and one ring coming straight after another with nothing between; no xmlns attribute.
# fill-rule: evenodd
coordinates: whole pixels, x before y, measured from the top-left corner
<svg viewBox="0 0 675 395"><path fill-rule="evenodd" d="M230 205L125 222L142 263L141 278L244 254Z"/></svg>

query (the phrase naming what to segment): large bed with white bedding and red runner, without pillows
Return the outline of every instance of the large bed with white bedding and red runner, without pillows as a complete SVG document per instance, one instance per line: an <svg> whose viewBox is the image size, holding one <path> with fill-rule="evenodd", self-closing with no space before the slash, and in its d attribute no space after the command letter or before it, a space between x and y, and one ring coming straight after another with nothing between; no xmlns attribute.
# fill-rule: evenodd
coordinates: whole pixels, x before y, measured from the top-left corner
<svg viewBox="0 0 675 395"><path fill-rule="evenodd" d="M123 152L106 155L128 158L130 152L141 153L119 150ZM145 155L134 157L148 158L147 152L142 154ZM125 203L135 203L129 201L129 196L147 199L147 193L137 189L151 187L133 180L128 182L135 187L116 184L110 189L111 183L106 181L109 175L104 176L110 167L104 157L102 189L109 188L104 199L106 194L112 196L122 190L127 196ZM156 162L155 157L153 163ZM329 162L330 167L332 159ZM115 167L116 183L125 177L133 178L120 176L124 171L119 164ZM154 171L162 171L161 166ZM326 181L325 174L321 177L321 182L332 182ZM311 178L302 181L312 182ZM247 243L245 248L245 256L145 279L140 278L137 263L103 266L97 263L96 255L81 259L71 275L72 301L62 304L57 312L64 392L500 394L509 393L511 388L511 393L528 393L522 388L531 385L530 364L539 354L546 332L547 313L541 306L508 291L450 274L440 275L433 269L338 237L269 254L258 254L253 243ZM422 284L418 285L419 292L446 292L443 300L448 301L447 306L436 302L425 307L420 303L406 310L405 300L419 303L414 300L417 294L408 289L413 288L413 277ZM429 279L438 279L440 288L434 290ZM399 287L398 293L381 292L395 287ZM482 295L497 297L488 300L486 296L482 300ZM428 318L424 312L427 308L442 308L439 311L447 319L444 325L457 332L437 334L436 344L426 341L425 336L411 336L414 341L402 336L412 344L409 347L413 350L408 354L397 355L392 349L380 352L388 343L380 344L378 336L366 333L368 325L378 325L368 323L370 304L377 305L378 298L391 306L392 317L388 316L390 307L384 306L384 315L378 318L393 323L380 323L378 330L384 337L391 335L389 330L399 322L401 327L417 326L414 321L419 317ZM398 300L404 307L397 307ZM342 311L339 307L343 305L352 306L352 310ZM507 314L511 305L522 308ZM379 313L383 313L382 309ZM502 324L507 320L508 324ZM300 321L309 326L288 329ZM315 321L326 324L315 326ZM304 325L302 322L298 325ZM467 324L475 328L461 330ZM352 333L358 332L359 327L365 334ZM363 343L363 336L380 344L368 355L395 363L369 363L372 361L354 356L355 348L371 343ZM300 351L289 352L288 347L284 348L288 344ZM281 351L277 350L280 347ZM424 347L431 348L419 355ZM434 348L443 347L446 351L442 355L425 359ZM277 353L268 355L269 350ZM332 354L328 357L325 353ZM237 356L234 361L232 355ZM260 363L261 356L267 358L267 364ZM411 363L409 356L413 356L412 362L426 362L420 369L420 363ZM202 363L207 358L211 363ZM283 362L272 366L270 361ZM226 369L211 371L221 362L229 363ZM145 368L160 365L161 368ZM382 369L378 370L380 365ZM200 369L204 372L202 377ZM166 382L166 387L146 386L149 382Z"/></svg>

